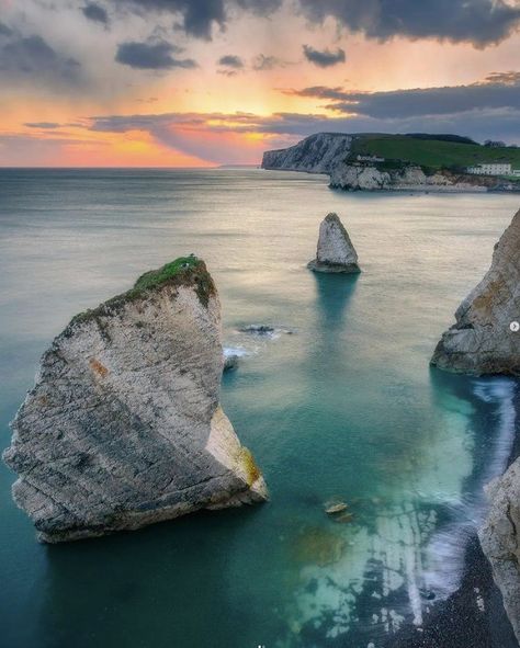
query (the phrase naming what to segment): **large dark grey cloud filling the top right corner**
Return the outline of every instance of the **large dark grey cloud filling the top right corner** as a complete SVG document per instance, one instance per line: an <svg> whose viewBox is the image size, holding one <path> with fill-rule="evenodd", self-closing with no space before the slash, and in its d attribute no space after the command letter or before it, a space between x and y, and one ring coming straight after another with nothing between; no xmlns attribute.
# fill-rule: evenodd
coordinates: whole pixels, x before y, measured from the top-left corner
<svg viewBox="0 0 520 648"><path fill-rule="evenodd" d="M520 7L505 0L298 0L312 21L332 16L352 32L385 41L393 36L498 43L519 27Z"/></svg>

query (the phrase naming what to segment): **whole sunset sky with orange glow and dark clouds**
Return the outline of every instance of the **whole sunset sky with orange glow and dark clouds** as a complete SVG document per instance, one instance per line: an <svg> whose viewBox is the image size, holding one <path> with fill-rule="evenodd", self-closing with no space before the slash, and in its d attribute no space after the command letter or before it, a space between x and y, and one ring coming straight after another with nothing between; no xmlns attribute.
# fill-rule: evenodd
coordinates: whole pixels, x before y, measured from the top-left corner
<svg viewBox="0 0 520 648"><path fill-rule="evenodd" d="M319 132L520 145L520 0L0 0L0 166L258 164Z"/></svg>

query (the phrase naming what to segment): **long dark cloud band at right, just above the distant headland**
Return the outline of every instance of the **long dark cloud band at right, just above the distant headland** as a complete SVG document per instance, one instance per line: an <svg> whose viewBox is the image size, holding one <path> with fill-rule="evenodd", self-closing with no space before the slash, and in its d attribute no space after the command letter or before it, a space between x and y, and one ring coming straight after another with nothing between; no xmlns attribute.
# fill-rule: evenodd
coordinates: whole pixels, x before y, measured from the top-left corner
<svg viewBox="0 0 520 648"><path fill-rule="evenodd" d="M351 92L317 86L290 94L331 101L327 107L375 118L451 115L473 110L520 110L520 73L500 72L471 86L419 88L389 92Z"/></svg>

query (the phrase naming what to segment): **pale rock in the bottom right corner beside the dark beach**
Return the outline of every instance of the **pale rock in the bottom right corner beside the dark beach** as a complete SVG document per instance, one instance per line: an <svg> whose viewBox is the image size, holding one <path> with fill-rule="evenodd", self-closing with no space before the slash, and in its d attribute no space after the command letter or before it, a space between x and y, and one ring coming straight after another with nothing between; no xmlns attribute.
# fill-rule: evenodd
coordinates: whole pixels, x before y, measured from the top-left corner
<svg viewBox="0 0 520 648"><path fill-rule="evenodd" d="M520 459L486 488L490 509L478 532L520 643Z"/></svg>

